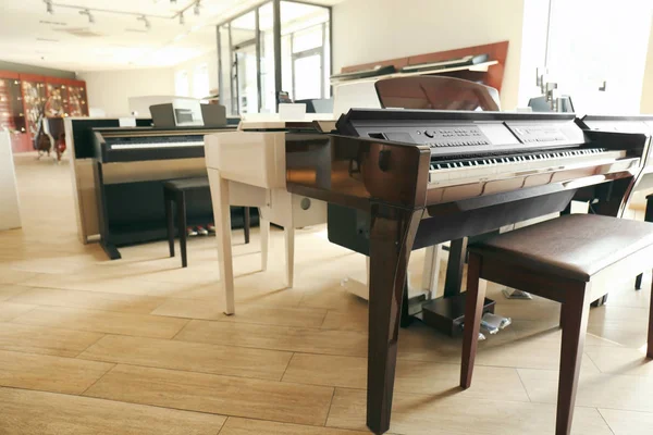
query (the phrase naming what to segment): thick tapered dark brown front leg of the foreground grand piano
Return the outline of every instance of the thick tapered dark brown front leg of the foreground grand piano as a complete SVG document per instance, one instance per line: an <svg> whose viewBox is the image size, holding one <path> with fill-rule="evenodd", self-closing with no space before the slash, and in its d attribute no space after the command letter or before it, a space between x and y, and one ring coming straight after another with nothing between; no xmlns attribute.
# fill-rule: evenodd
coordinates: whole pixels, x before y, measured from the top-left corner
<svg viewBox="0 0 653 435"><path fill-rule="evenodd" d="M367 425L390 428L406 269L422 210L372 204Z"/></svg>

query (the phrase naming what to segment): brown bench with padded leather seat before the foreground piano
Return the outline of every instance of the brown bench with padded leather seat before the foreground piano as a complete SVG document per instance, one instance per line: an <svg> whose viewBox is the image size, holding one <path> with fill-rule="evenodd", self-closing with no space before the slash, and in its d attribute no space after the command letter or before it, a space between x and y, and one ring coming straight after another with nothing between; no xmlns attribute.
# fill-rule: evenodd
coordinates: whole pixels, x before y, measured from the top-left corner
<svg viewBox="0 0 653 435"><path fill-rule="evenodd" d="M460 386L469 388L477 352L484 279L562 303L563 343L556 435L568 435L576 401L590 303L611 278L653 268L653 224L569 214L469 247ZM648 358L653 358L653 298Z"/></svg>

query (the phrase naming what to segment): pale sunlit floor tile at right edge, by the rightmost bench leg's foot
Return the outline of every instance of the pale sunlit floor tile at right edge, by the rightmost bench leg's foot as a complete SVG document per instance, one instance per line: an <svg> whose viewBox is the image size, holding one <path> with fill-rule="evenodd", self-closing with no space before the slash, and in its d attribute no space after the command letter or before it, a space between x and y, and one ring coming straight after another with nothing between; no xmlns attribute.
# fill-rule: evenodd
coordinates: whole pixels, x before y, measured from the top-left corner
<svg viewBox="0 0 653 435"><path fill-rule="evenodd" d="M603 373L653 376L653 360L646 359L645 347L587 346L584 352Z"/></svg>

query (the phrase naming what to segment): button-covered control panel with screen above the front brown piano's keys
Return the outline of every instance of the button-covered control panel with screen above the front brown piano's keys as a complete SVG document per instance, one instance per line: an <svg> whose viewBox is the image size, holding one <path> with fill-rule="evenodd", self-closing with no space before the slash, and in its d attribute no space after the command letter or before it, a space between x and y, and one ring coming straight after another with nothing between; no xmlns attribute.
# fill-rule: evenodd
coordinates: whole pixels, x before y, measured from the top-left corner
<svg viewBox="0 0 653 435"><path fill-rule="evenodd" d="M353 109L338 133L428 146L432 160L502 156L584 142L572 114Z"/></svg>

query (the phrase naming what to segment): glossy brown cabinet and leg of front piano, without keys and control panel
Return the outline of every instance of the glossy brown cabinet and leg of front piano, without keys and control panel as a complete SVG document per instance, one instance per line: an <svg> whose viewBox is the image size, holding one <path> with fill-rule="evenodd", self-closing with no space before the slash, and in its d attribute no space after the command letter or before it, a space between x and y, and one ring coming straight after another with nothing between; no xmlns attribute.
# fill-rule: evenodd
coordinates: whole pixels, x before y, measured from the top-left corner
<svg viewBox="0 0 653 435"><path fill-rule="evenodd" d="M320 164L309 158L311 151L316 159L323 156L320 147L332 159L329 177L318 177ZM429 201L435 192L427 188L428 147L331 135L321 146L288 141L286 154L294 152L304 159L286 169L288 191L326 201L329 239L370 258L367 424L377 434L390 428L398 328L409 310L405 285L410 252L560 212L581 187L607 184L605 191L615 194L608 197L609 208L618 209L618 191L632 185L639 164L639 159L616 160L579 179L438 203ZM371 173L378 176L366 176Z"/></svg>

